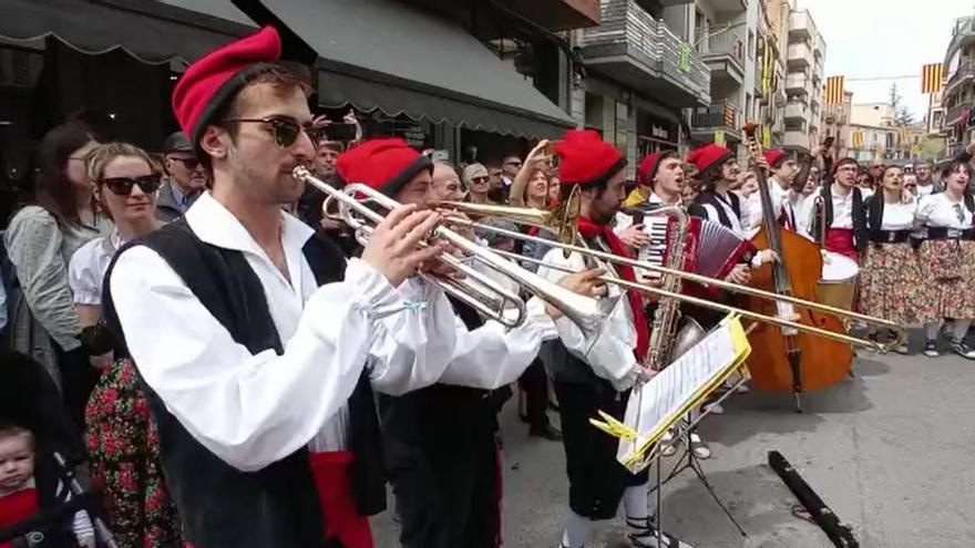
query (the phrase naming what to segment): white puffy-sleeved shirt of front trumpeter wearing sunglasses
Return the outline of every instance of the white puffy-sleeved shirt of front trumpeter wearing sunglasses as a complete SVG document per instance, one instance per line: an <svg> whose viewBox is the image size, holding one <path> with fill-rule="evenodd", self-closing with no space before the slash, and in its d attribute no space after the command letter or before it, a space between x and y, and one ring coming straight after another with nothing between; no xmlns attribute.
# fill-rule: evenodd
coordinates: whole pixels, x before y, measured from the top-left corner
<svg viewBox="0 0 975 548"><path fill-rule="evenodd" d="M267 302L280 355L237 344L147 247L126 250L109 281L140 373L181 424L232 466L259 469L306 444L347 448L347 401L363 366L373 389L392 395L441 376L496 382L501 347L523 355L537 352L546 329L555 334L552 320L535 314L506 338L494 327L469 335L439 288L421 280L393 288L359 259L349 260L343 281L318 287L301 252L314 230L281 216L287 277L209 194L186 213L201 240L246 258L264 288L255 298Z"/></svg>

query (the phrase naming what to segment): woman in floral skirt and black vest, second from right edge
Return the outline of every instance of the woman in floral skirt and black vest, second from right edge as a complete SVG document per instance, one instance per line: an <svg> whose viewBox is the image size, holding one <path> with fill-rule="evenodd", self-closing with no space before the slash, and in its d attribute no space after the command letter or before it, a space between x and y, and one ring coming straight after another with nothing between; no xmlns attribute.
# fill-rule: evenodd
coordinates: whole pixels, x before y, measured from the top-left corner
<svg viewBox="0 0 975 548"><path fill-rule="evenodd" d="M916 321L917 280L922 277L911 246L917 200L904 194L903 184L903 169L885 166L880 187L865 200L870 244L862 255L859 286L863 313L906 325ZM907 345L896 351L904 354Z"/></svg>

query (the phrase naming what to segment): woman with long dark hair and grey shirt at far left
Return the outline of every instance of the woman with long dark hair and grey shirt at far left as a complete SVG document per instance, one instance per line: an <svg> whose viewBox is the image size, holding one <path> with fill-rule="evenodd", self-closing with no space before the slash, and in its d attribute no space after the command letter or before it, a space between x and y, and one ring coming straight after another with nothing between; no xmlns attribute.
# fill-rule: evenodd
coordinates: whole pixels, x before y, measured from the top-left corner
<svg viewBox="0 0 975 548"><path fill-rule="evenodd" d="M85 156L96 145L78 123L48 132L38 148L37 188L4 235L19 282L10 294L12 348L48 368L79 425L98 375L79 339L68 261L86 241L112 229L94 207L84 170Z"/></svg>

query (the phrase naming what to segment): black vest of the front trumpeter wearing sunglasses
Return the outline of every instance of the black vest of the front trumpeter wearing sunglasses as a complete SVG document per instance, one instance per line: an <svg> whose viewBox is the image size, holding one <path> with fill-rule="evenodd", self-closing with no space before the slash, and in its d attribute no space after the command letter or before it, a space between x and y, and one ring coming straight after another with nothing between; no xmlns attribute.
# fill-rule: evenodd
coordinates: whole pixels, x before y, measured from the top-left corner
<svg viewBox="0 0 975 548"><path fill-rule="evenodd" d="M123 247L109 267L104 316L123 345L109 280L115 261L133 245L144 245L163 257L237 343L254 354L267 349L284 352L264 288L244 255L203 242L182 218ZM302 252L318 285L342 280L345 258L328 240L314 237ZM201 445L166 411L160 396L143 386L158 425L167 487L195 548L340 546L324 538L307 449L260 471L242 472ZM349 399L349 417L357 507L361 515L377 514L386 508L386 482L379 423L366 372Z"/></svg>

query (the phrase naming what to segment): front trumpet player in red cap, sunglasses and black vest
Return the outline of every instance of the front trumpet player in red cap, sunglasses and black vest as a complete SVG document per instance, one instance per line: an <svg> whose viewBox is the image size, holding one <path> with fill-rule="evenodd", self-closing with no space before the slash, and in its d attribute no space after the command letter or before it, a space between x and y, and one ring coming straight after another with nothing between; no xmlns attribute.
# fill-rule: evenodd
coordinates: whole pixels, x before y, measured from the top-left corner
<svg viewBox="0 0 975 548"><path fill-rule="evenodd" d="M116 254L105 316L145 381L167 486L195 548L369 548L366 516L386 506L372 391L490 378L497 363L458 359L484 347L465 338L459 350L443 292L407 281L447 249L420 247L435 213L393 209L347 261L283 211L301 196L292 170L311 163L319 131L280 51L268 27L177 82L173 110L213 188ZM429 179L417 156L408 167ZM402 167L372 173L396 178ZM527 348L512 358L524 365L556 334L547 317L528 322ZM484 340L492 355L514 343Z"/></svg>

